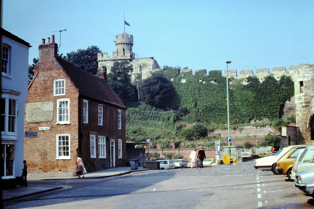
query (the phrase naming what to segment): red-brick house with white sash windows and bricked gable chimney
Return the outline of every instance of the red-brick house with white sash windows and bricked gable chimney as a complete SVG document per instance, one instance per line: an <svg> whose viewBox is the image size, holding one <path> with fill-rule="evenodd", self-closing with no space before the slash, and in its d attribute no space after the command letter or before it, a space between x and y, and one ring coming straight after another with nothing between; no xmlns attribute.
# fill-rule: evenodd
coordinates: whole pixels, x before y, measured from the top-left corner
<svg viewBox="0 0 314 209"><path fill-rule="evenodd" d="M46 43L45 43L46 42ZM57 56L54 35L42 39L28 87L24 155L29 176L73 176L76 156L88 172L126 165L126 107L106 82Z"/></svg>

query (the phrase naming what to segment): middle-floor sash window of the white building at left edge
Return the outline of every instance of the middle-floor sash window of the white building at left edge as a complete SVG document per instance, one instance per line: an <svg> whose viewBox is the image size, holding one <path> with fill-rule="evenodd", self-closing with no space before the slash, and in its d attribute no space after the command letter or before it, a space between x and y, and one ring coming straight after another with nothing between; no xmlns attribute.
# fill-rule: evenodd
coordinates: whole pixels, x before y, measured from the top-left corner
<svg viewBox="0 0 314 209"><path fill-rule="evenodd" d="M16 100L1 98L1 131L16 132L17 107Z"/></svg>

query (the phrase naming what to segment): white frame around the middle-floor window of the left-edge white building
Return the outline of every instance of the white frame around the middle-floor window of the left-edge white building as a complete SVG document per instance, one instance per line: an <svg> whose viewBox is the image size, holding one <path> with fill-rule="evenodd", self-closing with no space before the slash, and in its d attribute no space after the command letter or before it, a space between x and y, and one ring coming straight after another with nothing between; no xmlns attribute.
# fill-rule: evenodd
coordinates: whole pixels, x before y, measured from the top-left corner
<svg viewBox="0 0 314 209"><path fill-rule="evenodd" d="M13 96L13 97L16 97L16 96ZM18 111L18 101L17 99L13 99L12 98L12 95L10 94L6 94L6 93L3 93L3 97L1 97L1 99L4 99L4 106L2 108L4 108L4 114L1 114L1 117L4 117L4 130L1 131L1 134L3 135L17 135L17 111ZM12 108L12 105L9 105L11 103L15 103L15 110L12 112L11 110L11 114L9 113L9 107L11 106ZM10 118L13 118L14 119L14 124L13 124L13 129L14 131L9 131L9 128L11 127L10 125ZM1 121L2 122L2 121Z"/></svg>

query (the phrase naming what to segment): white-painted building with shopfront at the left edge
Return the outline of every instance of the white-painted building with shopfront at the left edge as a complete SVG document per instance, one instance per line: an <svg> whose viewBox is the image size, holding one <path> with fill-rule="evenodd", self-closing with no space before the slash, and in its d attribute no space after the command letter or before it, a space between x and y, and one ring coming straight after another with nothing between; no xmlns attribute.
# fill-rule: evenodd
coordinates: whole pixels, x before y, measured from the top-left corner
<svg viewBox="0 0 314 209"><path fill-rule="evenodd" d="M3 183L15 186L24 160L24 103L28 96L30 44L1 28L1 167ZM26 159L27 160L27 159Z"/></svg>

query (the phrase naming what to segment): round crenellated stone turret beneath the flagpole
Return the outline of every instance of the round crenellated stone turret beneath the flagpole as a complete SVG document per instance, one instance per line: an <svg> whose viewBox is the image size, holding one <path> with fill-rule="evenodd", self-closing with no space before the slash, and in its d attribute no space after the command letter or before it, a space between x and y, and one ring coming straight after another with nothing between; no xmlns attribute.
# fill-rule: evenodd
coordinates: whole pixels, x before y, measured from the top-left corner
<svg viewBox="0 0 314 209"><path fill-rule="evenodd" d="M112 59L125 60L134 59L134 53L132 52L133 35L128 35L126 32L116 35L116 51L112 52Z"/></svg>

